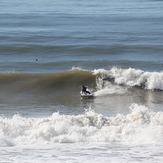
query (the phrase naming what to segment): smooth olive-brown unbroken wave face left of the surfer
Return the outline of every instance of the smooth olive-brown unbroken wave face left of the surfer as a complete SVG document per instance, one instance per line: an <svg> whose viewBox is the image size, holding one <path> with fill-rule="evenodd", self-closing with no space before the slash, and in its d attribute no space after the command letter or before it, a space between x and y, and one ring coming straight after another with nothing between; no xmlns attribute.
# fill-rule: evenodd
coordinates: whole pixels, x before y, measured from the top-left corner
<svg viewBox="0 0 163 163"><path fill-rule="evenodd" d="M3 92L69 93L79 91L83 83L93 86L95 77L89 71L72 70L60 73L4 73L0 74L0 90Z"/></svg>

